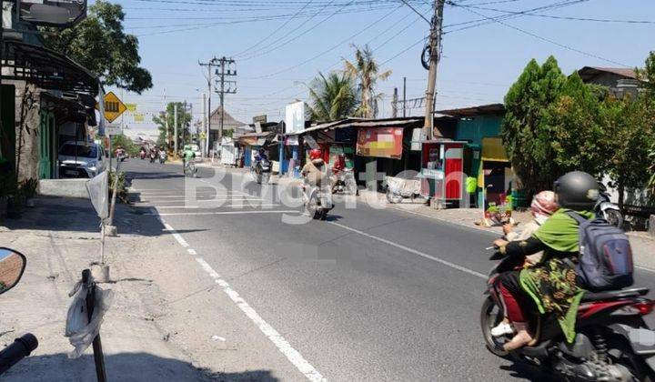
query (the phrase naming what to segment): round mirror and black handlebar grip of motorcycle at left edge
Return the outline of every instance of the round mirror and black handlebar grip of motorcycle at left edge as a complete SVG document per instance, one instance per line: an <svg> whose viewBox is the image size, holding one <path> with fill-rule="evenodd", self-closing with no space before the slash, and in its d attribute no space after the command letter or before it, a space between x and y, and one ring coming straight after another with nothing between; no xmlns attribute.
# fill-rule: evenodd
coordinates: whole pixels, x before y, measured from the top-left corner
<svg viewBox="0 0 655 382"><path fill-rule="evenodd" d="M0 295L18 284L27 259L23 254L9 248L0 247ZM38 340L30 333L16 338L14 343L0 351L0 375L27 357L38 347Z"/></svg>

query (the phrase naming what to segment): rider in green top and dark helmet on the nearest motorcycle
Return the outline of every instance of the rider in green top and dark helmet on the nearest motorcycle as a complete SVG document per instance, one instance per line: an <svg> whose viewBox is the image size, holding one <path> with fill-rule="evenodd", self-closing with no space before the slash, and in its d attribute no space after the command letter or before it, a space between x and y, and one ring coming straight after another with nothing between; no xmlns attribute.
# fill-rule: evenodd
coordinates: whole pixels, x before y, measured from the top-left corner
<svg viewBox="0 0 655 382"><path fill-rule="evenodd" d="M579 257L579 225L566 211L573 210L588 219L599 198L596 179L573 171L560 176L554 184L560 208L528 239L508 242L498 239L494 245L506 256L523 258L543 251L537 266L509 272L501 280L500 292L507 315L517 335L505 344L506 351L532 345L534 334L521 307L536 306L539 314L553 314L567 342L575 338L575 320L584 290L578 284L575 263Z"/></svg>

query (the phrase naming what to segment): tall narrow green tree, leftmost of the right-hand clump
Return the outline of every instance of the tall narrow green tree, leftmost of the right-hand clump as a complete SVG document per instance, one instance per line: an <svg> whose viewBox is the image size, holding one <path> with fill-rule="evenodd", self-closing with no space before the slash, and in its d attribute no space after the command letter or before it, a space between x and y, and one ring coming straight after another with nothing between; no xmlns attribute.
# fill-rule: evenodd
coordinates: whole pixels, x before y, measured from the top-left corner
<svg viewBox="0 0 655 382"><path fill-rule="evenodd" d="M529 195L550 189L559 175L544 119L565 83L566 76L553 56L541 66L533 59L505 95L507 112L500 134L514 172Z"/></svg>

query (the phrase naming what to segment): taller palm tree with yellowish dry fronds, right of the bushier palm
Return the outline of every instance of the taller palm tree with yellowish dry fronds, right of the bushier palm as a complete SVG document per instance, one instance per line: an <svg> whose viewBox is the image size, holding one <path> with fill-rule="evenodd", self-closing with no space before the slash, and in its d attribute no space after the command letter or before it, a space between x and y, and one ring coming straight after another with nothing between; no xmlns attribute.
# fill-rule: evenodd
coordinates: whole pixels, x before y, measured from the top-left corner
<svg viewBox="0 0 655 382"><path fill-rule="evenodd" d="M378 80L385 81L391 71L378 73L378 63L373 58L373 51L364 45L364 49L359 49L357 45L352 45L355 51L355 62L350 62L344 58L345 73L358 79L358 88L361 96L357 115L365 118L375 118L378 114L378 100L382 94L376 95L375 85Z"/></svg>

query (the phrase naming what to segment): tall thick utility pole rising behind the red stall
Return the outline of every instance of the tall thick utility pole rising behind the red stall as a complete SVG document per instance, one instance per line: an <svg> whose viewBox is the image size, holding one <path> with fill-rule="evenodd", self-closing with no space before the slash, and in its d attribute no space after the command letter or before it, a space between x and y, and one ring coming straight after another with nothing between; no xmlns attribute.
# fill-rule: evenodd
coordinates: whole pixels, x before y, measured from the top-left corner
<svg viewBox="0 0 655 382"><path fill-rule="evenodd" d="M430 23L429 36L429 71L428 71L428 90L426 91L426 115L425 124L423 125L428 139L432 139L434 132L434 96L437 87L437 66L441 56L441 28L443 25L443 8L445 0L435 0L435 15Z"/></svg>

